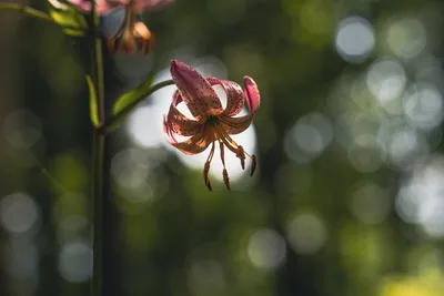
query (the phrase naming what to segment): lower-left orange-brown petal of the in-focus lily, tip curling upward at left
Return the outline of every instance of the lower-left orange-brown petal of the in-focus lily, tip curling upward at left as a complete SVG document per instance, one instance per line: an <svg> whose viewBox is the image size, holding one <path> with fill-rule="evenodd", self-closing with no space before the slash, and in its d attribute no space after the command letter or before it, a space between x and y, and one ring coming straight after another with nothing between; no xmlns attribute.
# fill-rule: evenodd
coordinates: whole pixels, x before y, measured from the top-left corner
<svg viewBox="0 0 444 296"><path fill-rule="evenodd" d="M163 131L167 141L171 145L180 150L182 153L188 155L194 155L203 152L212 142L212 140L209 139L203 131L201 133L194 134L186 141L178 142L174 137L172 129L169 126L167 122L167 116L163 119Z"/></svg>

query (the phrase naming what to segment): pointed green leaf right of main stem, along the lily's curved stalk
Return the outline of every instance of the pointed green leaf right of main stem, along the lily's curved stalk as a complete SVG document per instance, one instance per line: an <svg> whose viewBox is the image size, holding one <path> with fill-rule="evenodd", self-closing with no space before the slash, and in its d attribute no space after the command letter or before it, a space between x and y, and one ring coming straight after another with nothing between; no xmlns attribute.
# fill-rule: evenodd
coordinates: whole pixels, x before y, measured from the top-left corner
<svg viewBox="0 0 444 296"><path fill-rule="evenodd" d="M150 93L154 75L155 71L152 71L138 88L124 92L115 100L115 103L112 106L113 121L107 131L115 130L124 120L125 115L132 111L132 106L135 106L143 96Z"/></svg>

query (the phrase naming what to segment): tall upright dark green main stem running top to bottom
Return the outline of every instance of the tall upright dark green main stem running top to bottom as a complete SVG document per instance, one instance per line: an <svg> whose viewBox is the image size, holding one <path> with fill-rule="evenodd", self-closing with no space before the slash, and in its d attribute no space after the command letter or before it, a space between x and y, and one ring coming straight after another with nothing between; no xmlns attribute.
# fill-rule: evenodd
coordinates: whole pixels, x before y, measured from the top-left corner
<svg viewBox="0 0 444 296"><path fill-rule="evenodd" d="M100 18L95 12L94 1L91 1L92 13L90 19L90 28L97 31L100 28ZM104 113L104 81L103 81L103 57L102 41L93 37L91 40L93 69L92 75L98 95L98 113L99 122L103 124L105 119ZM98 129L94 129L93 141L93 275L91 295L102 296L103 292L103 200L105 196L105 182L103 178L104 167L104 149L105 134Z"/></svg>

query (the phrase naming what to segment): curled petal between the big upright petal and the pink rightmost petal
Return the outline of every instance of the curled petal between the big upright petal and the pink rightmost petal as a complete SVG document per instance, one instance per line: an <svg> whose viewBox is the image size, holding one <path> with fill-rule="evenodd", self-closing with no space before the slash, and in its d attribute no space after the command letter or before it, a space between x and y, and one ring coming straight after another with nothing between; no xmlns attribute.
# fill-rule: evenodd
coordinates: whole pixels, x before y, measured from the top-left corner
<svg viewBox="0 0 444 296"><path fill-rule="evenodd" d="M238 115L239 112L242 111L244 102L242 88L233 81L220 80L216 78L208 78L206 80L211 85L222 85L226 93L226 108L222 114L229 116Z"/></svg>

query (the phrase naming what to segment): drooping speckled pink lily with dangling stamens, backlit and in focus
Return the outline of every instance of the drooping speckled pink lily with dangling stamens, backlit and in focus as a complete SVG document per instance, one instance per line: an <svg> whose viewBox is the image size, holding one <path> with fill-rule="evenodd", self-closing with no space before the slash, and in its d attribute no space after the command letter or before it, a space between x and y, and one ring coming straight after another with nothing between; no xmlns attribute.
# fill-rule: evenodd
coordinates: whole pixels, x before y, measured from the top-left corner
<svg viewBox="0 0 444 296"><path fill-rule="evenodd" d="M248 154L230 135L242 133L253 121L260 105L260 94L255 82L251 78L244 76L244 91L242 91L242 88L235 82L216 78L205 79L193 68L175 60L171 62L171 75L178 90L173 94L170 111L163 120L167 141L189 155L202 153L211 145L203 167L203 178L210 191L212 187L209 172L216 142L220 145L222 176L228 190L231 187L225 167L225 146L241 161L242 169L245 169L246 156L252 160L251 175L253 175L256 156ZM225 109L222 108L213 85L221 85L225 91ZM244 101L246 101L250 113L244 116L235 116L243 109ZM185 103L194 119L185 116L176 109L181 102ZM178 142L175 134L190 137Z"/></svg>

